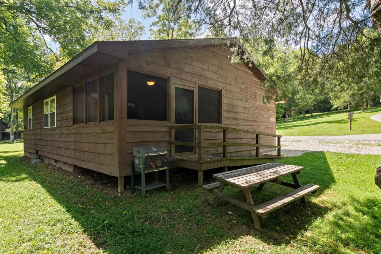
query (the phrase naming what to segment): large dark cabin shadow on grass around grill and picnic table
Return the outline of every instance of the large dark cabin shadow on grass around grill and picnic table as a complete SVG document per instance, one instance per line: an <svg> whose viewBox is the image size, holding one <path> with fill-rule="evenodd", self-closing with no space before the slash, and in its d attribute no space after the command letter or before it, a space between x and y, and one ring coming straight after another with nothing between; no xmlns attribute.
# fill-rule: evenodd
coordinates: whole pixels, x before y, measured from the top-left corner
<svg viewBox="0 0 381 254"><path fill-rule="evenodd" d="M309 154L314 155L313 159ZM204 251L245 235L253 235L267 244L288 244L292 240L290 235L303 233L315 219L329 211L315 203L298 201L261 219L263 230L258 231L247 211L223 201L216 208L211 206L213 196L197 188L194 170L173 170L170 176L172 191L151 190L147 198L140 198L140 193L119 196L106 194L102 187L98 188L106 179L106 183L112 182L110 184L116 189L115 177L93 172L95 177L83 181L83 175L67 174L45 164L31 164L16 156L3 156L2 159L6 164L0 170L1 181L22 181L27 175L65 207L96 246L108 252ZM287 160L290 159L279 162L287 163ZM320 185L315 195L320 195L335 182L324 153L303 154L292 162L304 166L299 175L302 185ZM19 166L7 166L14 163ZM212 173L205 174L207 180L212 180ZM23 177L18 179L18 176ZM228 193L232 191L232 188L227 189ZM287 187L268 183L261 191L253 190L253 198L259 204L288 191Z"/></svg>

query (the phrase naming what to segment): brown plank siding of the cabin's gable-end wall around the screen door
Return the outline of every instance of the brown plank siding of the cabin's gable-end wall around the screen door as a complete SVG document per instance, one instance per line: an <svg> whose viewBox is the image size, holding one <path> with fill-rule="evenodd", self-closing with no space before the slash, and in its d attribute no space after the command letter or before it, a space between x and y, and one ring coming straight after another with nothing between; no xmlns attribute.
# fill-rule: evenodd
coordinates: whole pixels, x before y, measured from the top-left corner
<svg viewBox="0 0 381 254"><path fill-rule="evenodd" d="M170 151L170 125L174 123L174 87L210 87L222 90L222 125L275 133L275 103L263 104L264 88L243 63L232 64L224 47L157 51L130 54L127 68L170 79L168 122L126 121L126 175L130 175L132 150L138 145L160 145ZM196 97L197 115L197 97ZM127 112L128 115L128 112ZM196 116L197 119L197 116ZM196 122L196 124L199 124ZM195 135L197 137L197 134ZM255 143L255 135L229 132L229 141ZM222 141L222 131L205 131L205 142ZM274 145L275 138L261 136L261 143ZM263 148L261 151L265 151ZM204 153L222 153L222 147L205 148ZM255 154L250 147L229 147L229 153Z"/></svg>

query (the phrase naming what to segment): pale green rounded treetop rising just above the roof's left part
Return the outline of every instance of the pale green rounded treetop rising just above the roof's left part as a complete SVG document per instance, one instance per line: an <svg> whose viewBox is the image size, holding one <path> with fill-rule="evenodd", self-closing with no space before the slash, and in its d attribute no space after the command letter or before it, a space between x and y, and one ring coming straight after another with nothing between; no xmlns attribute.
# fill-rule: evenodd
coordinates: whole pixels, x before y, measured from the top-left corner
<svg viewBox="0 0 381 254"><path fill-rule="evenodd" d="M126 22L121 19L110 29L97 29L97 31L92 32L92 39L94 41L141 40L144 31L144 26L140 21L130 19Z"/></svg>

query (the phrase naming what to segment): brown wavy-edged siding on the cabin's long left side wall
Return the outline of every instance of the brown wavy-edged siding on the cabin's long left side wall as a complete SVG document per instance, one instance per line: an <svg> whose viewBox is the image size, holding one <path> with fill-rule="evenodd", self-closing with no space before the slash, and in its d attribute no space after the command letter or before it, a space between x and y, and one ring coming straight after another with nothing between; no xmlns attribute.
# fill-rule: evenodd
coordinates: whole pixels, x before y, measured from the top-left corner
<svg viewBox="0 0 381 254"><path fill-rule="evenodd" d="M46 162L70 171L75 165L115 175L114 122L72 125L72 88L56 98L56 127L43 128L43 100L32 105L33 129L24 130L24 153L34 156L38 150ZM24 108L24 122L27 110Z"/></svg>

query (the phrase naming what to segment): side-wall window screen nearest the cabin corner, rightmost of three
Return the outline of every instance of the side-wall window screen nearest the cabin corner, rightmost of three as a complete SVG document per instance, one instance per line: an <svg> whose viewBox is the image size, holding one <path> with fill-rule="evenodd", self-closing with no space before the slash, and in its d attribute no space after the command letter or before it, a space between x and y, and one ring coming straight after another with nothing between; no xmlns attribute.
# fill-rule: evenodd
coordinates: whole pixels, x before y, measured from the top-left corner
<svg viewBox="0 0 381 254"><path fill-rule="evenodd" d="M114 119L114 72L102 77L102 121Z"/></svg>

